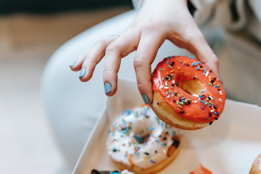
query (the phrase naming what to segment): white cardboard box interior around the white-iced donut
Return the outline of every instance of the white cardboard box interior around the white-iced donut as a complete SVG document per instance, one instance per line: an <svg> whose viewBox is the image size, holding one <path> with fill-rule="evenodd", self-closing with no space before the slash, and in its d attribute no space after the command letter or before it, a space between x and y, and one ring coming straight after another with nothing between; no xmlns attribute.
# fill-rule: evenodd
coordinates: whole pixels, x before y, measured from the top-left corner
<svg viewBox="0 0 261 174"><path fill-rule="evenodd" d="M90 174L92 169L117 170L106 150L108 130L124 110L143 104L137 83L119 80L117 93L107 97L91 136L73 174ZM202 165L213 174L246 174L261 153L261 107L226 99L220 118L200 130L182 130L180 151L157 172L189 174Z"/></svg>

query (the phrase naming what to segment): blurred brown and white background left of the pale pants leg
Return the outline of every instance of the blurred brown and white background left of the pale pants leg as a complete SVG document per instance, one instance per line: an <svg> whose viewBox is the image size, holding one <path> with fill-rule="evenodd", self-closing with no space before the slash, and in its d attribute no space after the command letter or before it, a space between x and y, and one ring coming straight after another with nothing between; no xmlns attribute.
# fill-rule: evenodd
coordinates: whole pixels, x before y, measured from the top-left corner
<svg viewBox="0 0 261 174"><path fill-rule="evenodd" d="M45 64L70 38L132 8L131 0L0 0L0 173L59 173L39 95Z"/></svg>

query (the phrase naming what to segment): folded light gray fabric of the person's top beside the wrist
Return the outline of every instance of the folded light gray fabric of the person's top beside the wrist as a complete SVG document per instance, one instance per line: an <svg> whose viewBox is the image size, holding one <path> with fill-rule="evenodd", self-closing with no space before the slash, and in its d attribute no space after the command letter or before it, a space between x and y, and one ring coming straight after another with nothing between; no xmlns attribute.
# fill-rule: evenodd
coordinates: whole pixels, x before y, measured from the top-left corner
<svg viewBox="0 0 261 174"><path fill-rule="evenodd" d="M135 9L139 9L144 0L132 0ZM224 27L238 31L244 28L261 42L261 1L260 0L190 0L196 11L193 17L201 27ZM162 3L162 2L159 2ZM232 6L236 11L232 11ZM233 15L237 15L235 20Z"/></svg>

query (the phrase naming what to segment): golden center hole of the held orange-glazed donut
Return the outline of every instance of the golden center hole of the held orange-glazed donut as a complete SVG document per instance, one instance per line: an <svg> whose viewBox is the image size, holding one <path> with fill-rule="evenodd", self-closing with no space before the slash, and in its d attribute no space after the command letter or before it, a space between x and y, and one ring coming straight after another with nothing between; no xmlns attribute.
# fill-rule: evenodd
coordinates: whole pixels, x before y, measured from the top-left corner
<svg viewBox="0 0 261 174"><path fill-rule="evenodd" d="M186 93L193 95L193 94L200 94L200 91L205 90L205 85L197 79L188 80L188 81L180 81L179 87L183 89Z"/></svg>

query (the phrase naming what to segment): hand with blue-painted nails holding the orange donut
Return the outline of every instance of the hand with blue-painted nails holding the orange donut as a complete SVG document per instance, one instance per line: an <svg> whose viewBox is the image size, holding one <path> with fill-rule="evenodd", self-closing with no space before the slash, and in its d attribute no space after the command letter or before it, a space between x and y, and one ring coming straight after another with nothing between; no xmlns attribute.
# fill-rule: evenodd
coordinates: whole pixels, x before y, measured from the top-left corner
<svg viewBox="0 0 261 174"><path fill-rule="evenodd" d="M126 31L121 35L97 41L71 69L85 70L80 80L86 82L91 79L95 66L104 57L105 94L112 96L117 90L117 73L121 58L137 50L134 69L138 89L144 103L150 104L153 100L151 64L166 39L190 51L218 77L218 59L190 14L187 0L145 0L137 17Z"/></svg>

